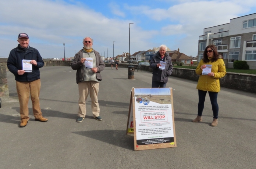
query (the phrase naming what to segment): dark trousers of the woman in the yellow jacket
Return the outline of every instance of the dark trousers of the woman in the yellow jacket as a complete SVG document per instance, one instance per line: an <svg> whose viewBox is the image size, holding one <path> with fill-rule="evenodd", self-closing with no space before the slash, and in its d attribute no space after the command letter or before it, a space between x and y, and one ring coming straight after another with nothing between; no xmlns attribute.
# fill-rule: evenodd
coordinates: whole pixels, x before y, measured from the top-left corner
<svg viewBox="0 0 256 169"><path fill-rule="evenodd" d="M198 90L198 116L202 116L204 103L205 103L205 96L207 91ZM210 100L211 100L211 108L213 109L213 118L218 119L218 103L217 103L217 96L218 92L208 91Z"/></svg>

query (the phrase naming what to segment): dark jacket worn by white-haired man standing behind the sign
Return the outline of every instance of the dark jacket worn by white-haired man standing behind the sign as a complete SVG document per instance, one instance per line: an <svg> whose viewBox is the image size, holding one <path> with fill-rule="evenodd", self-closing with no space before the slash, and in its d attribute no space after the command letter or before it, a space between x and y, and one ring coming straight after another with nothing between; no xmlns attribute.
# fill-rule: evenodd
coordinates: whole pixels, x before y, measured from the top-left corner
<svg viewBox="0 0 256 169"><path fill-rule="evenodd" d="M171 57L165 53L164 62L166 62L166 66L164 70L161 70L156 67L157 64L160 64L161 56L159 51L153 55L149 67L153 69L152 81L155 82L168 82L168 76L171 76L173 72L173 64L171 63Z"/></svg>

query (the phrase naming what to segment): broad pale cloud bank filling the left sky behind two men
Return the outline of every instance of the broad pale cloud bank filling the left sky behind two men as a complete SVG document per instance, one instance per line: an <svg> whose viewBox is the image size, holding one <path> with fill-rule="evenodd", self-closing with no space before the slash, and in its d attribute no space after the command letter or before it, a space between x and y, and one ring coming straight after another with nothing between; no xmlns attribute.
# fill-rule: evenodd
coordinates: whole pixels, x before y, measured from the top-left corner
<svg viewBox="0 0 256 169"><path fill-rule="evenodd" d="M66 4L62 1L24 0L26 10L21 10L16 0L0 2L0 39L12 40L11 48L17 46L18 33L28 33L32 46L36 45L43 58L73 57L74 50L82 48L82 39L90 36L93 47L103 53L109 47L109 56L128 52L130 20L111 19L86 6ZM149 41L157 31L142 30L133 25L131 29L131 53L152 48ZM8 56L8 46L0 46L2 56ZM35 47L35 46L32 46ZM8 49L8 50L7 50Z"/></svg>

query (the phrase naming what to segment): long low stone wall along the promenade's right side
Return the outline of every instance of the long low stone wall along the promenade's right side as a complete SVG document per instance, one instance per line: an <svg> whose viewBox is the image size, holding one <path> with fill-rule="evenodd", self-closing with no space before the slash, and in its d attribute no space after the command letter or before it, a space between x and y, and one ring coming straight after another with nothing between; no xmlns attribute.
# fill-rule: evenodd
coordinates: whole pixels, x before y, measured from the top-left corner
<svg viewBox="0 0 256 169"><path fill-rule="evenodd" d="M106 66L111 67L110 64L106 64ZM128 66L129 66L128 64L118 65L119 68L128 68ZM138 65L130 64L130 66L136 67ZM142 65L142 70L152 72L153 69L149 68L149 66ZM171 76L175 76L177 78L189 79L193 81L198 81L199 79L199 75L196 74L195 69L186 69L186 68L173 68L173 73L171 74ZM236 90L256 93L256 75L227 72L224 78L220 78L220 86L226 87L229 89L236 89Z"/></svg>

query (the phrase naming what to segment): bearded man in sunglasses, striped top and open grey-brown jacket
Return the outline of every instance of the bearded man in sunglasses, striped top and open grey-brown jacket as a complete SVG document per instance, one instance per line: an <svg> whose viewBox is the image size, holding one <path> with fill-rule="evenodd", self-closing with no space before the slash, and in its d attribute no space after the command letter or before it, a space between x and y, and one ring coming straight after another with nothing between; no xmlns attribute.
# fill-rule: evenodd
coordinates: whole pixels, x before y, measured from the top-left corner
<svg viewBox="0 0 256 169"><path fill-rule="evenodd" d="M92 48L93 39L85 37L83 39L83 49L75 54L74 60L71 63L71 68L77 70L77 83L79 90L78 100L78 118L77 122L82 122L86 115L85 102L90 94L92 100L92 114L96 120L102 120L100 117L100 107L98 103L99 82L102 80L100 72L105 68L105 64L100 57L100 53ZM85 63L92 61L90 64Z"/></svg>

